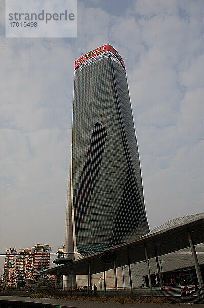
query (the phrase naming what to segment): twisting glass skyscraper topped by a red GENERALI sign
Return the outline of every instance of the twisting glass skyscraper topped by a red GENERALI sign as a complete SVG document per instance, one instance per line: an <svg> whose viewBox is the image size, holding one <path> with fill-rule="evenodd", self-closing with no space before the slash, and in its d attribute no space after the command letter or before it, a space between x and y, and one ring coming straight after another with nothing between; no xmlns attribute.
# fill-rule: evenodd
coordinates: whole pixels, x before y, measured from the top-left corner
<svg viewBox="0 0 204 308"><path fill-rule="evenodd" d="M76 259L148 232L124 62L104 45L75 62L65 253Z"/></svg>

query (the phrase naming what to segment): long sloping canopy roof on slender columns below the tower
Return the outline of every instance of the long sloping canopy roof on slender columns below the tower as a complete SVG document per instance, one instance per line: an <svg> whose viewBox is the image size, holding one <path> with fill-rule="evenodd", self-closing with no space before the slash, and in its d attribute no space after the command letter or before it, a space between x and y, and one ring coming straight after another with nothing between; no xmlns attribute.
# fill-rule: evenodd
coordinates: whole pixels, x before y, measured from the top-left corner
<svg viewBox="0 0 204 308"><path fill-rule="evenodd" d="M157 255L161 256L189 247L187 232L191 233L194 245L204 242L204 213L172 219L139 239L112 247L108 251L117 255L115 266L121 267L128 263L132 264L145 260L145 246L149 259L156 256L156 251ZM72 266L73 274L86 275L88 274L89 264L92 274L100 273L104 270L104 263L99 258L103 254L104 252L92 254L74 260L72 265L59 265L37 274L70 275ZM112 268L114 268L113 262L105 264L106 271Z"/></svg>

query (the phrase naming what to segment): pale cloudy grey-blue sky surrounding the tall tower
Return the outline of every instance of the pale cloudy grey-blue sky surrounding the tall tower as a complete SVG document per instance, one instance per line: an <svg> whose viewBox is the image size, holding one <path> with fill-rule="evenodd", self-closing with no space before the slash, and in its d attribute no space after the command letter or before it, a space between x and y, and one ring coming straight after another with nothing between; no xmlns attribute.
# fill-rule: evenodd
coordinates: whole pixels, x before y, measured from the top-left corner
<svg viewBox="0 0 204 308"><path fill-rule="evenodd" d="M74 60L106 43L126 65L150 228L204 211L203 16L203 0L81 0L77 38L5 39L1 23L0 253L64 243Z"/></svg>

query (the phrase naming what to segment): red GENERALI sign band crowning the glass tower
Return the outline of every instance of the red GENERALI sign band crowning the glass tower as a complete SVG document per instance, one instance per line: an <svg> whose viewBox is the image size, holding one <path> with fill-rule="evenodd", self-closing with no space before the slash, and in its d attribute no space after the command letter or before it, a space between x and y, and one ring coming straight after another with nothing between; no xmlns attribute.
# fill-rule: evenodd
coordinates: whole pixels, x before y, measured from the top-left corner
<svg viewBox="0 0 204 308"><path fill-rule="evenodd" d="M98 47L92 51L89 51L88 53L84 54L83 56L81 56L78 60L75 61L75 69L82 64L83 62L85 62L86 60L92 58L93 56L100 54L102 52L105 51L110 51L112 52L117 59L120 61L120 63L122 64L122 66L125 68L125 62L123 61L122 57L120 56L120 54L114 49L114 47L112 47L111 45L107 44L107 45L103 45L101 47Z"/></svg>

